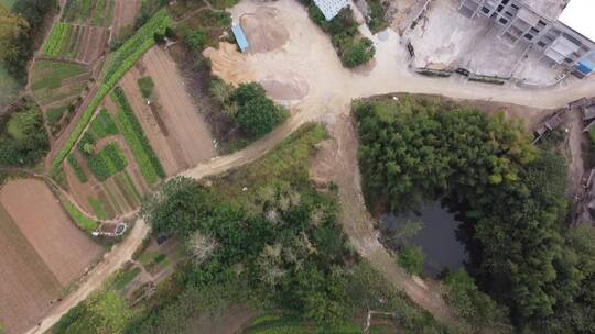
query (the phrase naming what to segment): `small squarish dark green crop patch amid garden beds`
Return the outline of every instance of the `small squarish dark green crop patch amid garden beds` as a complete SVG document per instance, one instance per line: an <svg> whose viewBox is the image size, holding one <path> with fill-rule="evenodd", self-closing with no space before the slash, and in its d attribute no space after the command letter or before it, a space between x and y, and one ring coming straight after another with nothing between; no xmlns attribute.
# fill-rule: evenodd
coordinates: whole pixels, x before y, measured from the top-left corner
<svg viewBox="0 0 595 334"><path fill-rule="evenodd" d="M85 154L84 156L90 171L100 182L118 171L122 171L128 166L128 162L117 142L109 143L98 154Z"/></svg>

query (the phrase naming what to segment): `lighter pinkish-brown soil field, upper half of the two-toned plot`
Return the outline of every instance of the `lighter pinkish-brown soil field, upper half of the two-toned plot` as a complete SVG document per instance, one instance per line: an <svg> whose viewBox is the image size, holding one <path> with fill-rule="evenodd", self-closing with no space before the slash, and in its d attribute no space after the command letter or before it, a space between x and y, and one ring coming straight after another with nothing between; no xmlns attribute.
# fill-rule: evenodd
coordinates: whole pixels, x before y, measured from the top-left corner
<svg viewBox="0 0 595 334"><path fill-rule="evenodd" d="M43 181L10 181L0 190L0 202L63 286L79 278L102 252L71 222Z"/></svg>

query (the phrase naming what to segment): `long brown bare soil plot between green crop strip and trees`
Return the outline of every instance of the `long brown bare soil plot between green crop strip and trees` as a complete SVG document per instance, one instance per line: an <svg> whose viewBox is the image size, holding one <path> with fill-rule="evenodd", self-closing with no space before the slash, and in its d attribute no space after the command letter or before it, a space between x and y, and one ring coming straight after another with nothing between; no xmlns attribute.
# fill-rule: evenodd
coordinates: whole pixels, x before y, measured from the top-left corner
<svg viewBox="0 0 595 334"><path fill-rule="evenodd" d="M155 84L156 108L148 105L140 93L138 79L143 76ZM167 176L215 156L210 130L193 104L176 64L161 48L150 49L140 66L123 77L121 87Z"/></svg>

